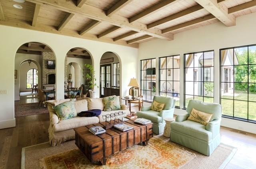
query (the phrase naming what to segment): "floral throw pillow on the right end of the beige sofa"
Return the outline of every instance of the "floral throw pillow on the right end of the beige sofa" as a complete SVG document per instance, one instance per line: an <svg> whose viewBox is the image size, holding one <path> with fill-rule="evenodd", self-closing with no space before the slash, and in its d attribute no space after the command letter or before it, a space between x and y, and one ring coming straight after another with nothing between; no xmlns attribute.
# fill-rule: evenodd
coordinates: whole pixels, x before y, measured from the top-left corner
<svg viewBox="0 0 256 169"><path fill-rule="evenodd" d="M108 96L102 98L104 111L120 110L120 101L118 96Z"/></svg>

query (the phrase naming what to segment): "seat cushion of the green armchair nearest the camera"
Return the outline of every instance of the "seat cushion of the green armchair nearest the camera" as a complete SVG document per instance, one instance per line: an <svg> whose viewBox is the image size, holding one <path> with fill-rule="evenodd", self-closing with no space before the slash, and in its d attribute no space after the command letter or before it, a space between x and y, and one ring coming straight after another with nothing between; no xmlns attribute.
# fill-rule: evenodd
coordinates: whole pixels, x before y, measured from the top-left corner
<svg viewBox="0 0 256 169"><path fill-rule="evenodd" d="M206 126L191 120L172 122L171 130L175 130L176 132L180 132L204 141L210 142L212 140L212 132L207 131Z"/></svg>

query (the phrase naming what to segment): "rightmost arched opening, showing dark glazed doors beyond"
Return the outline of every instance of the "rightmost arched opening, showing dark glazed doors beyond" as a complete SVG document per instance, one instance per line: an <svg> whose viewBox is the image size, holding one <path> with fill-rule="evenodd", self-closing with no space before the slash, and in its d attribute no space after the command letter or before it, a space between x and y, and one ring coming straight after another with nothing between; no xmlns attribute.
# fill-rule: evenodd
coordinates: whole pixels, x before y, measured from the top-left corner
<svg viewBox="0 0 256 169"><path fill-rule="evenodd" d="M115 53L105 52L100 59L100 97L121 96L121 61Z"/></svg>

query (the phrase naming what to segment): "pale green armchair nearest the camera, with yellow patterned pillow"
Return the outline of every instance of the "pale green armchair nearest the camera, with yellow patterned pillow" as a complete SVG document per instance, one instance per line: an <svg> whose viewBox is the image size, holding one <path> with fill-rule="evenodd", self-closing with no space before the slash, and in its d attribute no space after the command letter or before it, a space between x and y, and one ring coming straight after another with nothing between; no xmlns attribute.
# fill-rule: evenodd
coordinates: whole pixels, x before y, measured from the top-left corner
<svg viewBox="0 0 256 169"><path fill-rule="evenodd" d="M192 108L214 115L205 126L198 122L187 120ZM170 140L204 155L211 155L220 144L222 106L215 103L190 100L186 111L187 114L178 115L175 122L171 123Z"/></svg>

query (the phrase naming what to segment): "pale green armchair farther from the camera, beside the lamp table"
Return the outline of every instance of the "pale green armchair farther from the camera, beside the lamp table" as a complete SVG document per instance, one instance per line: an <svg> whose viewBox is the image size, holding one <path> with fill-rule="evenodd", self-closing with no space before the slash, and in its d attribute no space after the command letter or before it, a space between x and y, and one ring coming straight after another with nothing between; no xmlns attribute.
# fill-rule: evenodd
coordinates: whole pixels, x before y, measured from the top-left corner
<svg viewBox="0 0 256 169"><path fill-rule="evenodd" d="M161 134L164 132L165 117L173 118L175 100L165 96L154 96L153 101L159 103L165 103L164 109L161 112L151 110L151 106L143 106L141 111L137 112L138 118L146 118L153 122L153 132L155 134Z"/></svg>

